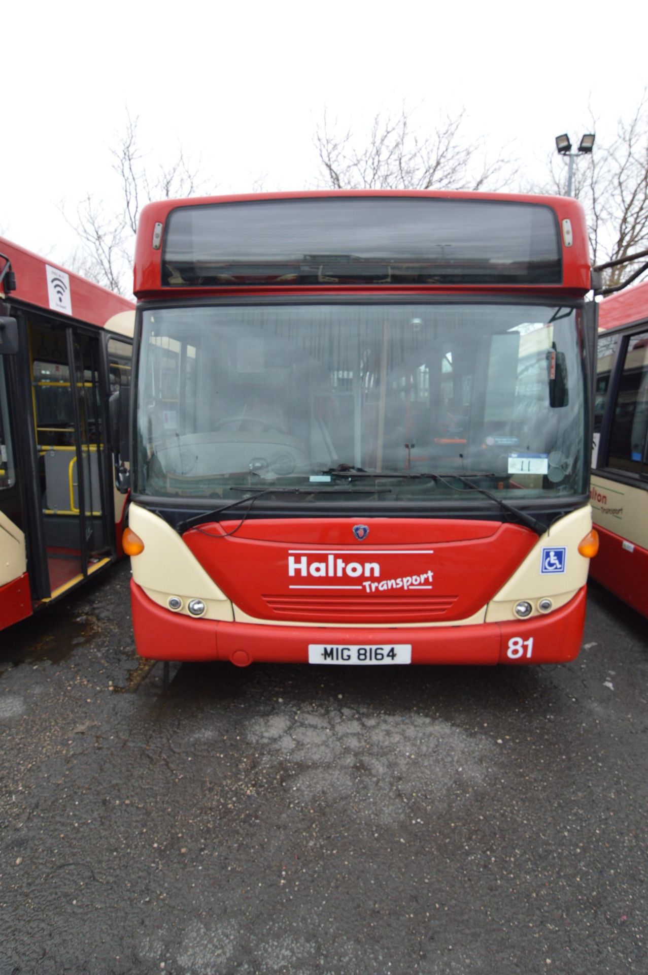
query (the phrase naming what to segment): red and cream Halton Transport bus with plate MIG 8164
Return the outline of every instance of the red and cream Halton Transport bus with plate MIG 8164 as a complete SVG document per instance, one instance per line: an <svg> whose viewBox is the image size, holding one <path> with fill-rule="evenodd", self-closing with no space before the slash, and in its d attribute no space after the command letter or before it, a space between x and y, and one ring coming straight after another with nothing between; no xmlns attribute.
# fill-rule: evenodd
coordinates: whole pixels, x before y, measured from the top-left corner
<svg viewBox="0 0 648 975"><path fill-rule="evenodd" d="M595 549L590 289L570 199L147 206L125 533L138 653L574 658Z"/></svg>

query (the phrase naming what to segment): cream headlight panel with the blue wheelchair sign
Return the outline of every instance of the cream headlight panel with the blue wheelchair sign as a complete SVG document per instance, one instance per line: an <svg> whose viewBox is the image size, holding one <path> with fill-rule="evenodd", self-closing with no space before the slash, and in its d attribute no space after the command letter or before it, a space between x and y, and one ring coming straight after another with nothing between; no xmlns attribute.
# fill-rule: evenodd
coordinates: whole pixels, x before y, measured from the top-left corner
<svg viewBox="0 0 648 975"><path fill-rule="evenodd" d="M486 622L499 623L515 619L513 607L519 600L537 604L538 600L549 597L556 609L568 603L588 581L590 560L579 553L578 546L590 530L590 505L572 511L551 526L488 604ZM542 549L551 545L567 549L565 571L556 575L543 575L540 571ZM532 619L539 615L542 613L534 605L533 613L526 618Z"/></svg>

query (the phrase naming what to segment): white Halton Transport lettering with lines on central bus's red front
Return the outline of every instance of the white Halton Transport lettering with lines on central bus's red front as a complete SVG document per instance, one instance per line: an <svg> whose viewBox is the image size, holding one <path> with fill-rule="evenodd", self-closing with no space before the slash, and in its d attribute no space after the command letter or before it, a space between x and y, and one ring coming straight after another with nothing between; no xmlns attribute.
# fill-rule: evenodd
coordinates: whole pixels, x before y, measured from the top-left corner
<svg viewBox="0 0 648 975"><path fill-rule="evenodd" d="M363 589L365 593L385 592L388 589L432 589L434 572L430 568L419 569L411 575L382 578L378 562L350 562L345 553L295 551L288 554L288 576L302 580L291 584L290 589ZM373 551L372 551L372 554ZM417 556L433 554L428 550L378 550L375 554ZM324 559L323 559L324 556ZM335 584L320 582L317 585L304 584L305 579L336 580Z"/></svg>

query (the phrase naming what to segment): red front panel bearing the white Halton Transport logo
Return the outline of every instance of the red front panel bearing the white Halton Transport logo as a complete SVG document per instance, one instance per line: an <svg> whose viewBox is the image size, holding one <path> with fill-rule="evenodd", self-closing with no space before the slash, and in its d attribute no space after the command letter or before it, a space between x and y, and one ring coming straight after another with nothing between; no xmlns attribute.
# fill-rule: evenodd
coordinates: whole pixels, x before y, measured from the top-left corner
<svg viewBox="0 0 648 975"><path fill-rule="evenodd" d="M228 536L238 524L206 524L185 532L183 541L249 616L295 622L466 619L493 598L537 541L518 525L451 519L372 518L362 541L352 530L357 519L259 519ZM309 570L313 564L317 575Z"/></svg>

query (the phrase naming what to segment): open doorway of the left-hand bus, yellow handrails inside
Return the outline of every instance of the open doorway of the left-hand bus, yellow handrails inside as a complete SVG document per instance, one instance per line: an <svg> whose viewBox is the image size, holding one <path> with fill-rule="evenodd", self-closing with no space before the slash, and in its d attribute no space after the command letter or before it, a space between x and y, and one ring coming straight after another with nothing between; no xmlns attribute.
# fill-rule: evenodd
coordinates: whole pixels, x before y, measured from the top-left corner
<svg viewBox="0 0 648 975"><path fill-rule="evenodd" d="M24 538L31 599L3 625L57 599L115 556L102 336L46 314L12 311L18 355L2 359L14 407L7 419L15 474L1 503Z"/></svg>

